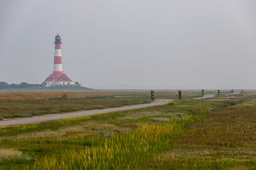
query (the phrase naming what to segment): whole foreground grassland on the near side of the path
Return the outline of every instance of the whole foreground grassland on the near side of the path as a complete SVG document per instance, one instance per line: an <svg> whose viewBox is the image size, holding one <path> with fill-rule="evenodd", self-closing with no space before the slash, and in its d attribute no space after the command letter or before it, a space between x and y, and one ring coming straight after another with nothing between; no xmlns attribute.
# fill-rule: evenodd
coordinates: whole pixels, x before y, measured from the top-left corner
<svg viewBox="0 0 256 170"><path fill-rule="evenodd" d="M0 169L254 169L256 97L0 129Z"/></svg>

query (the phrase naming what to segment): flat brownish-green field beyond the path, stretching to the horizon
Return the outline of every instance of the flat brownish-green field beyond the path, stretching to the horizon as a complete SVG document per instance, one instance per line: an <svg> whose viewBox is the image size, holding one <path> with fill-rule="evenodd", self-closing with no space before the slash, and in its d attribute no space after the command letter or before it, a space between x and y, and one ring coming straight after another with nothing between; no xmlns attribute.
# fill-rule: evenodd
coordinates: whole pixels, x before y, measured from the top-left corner
<svg viewBox="0 0 256 170"><path fill-rule="evenodd" d="M175 91L156 91L156 98L174 99ZM67 94L67 99L61 99ZM184 98L200 92L184 92ZM0 120L52 113L94 110L150 103L149 90L90 90L79 92L0 92Z"/></svg>

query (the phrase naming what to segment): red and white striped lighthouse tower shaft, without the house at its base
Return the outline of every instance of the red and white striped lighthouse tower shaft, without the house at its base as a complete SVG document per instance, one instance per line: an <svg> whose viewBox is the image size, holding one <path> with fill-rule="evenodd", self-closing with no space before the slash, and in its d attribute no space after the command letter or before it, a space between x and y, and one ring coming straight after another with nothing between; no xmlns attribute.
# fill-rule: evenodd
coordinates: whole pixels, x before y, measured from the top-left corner
<svg viewBox="0 0 256 170"><path fill-rule="evenodd" d="M61 38L59 34L55 37L55 52L54 52L54 65L53 65L53 79L57 81L62 74L62 63L61 63Z"/></svg>

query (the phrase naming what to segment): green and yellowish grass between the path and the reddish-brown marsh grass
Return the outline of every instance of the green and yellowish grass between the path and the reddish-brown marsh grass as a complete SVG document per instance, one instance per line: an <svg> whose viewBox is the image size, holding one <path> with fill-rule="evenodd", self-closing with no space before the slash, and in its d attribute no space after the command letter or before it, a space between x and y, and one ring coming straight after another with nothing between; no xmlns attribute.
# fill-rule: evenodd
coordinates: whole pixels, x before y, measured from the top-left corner
<svg viewBox="0 0 256 170"><path fill-rule="evenodd" d="M182 99L151 108L2 128L1 148L15 148L31 159L4 160L0 169L158 167L151 163L152 157L171 150L170 139L186 135L186 127L222 102Z"/></svg>

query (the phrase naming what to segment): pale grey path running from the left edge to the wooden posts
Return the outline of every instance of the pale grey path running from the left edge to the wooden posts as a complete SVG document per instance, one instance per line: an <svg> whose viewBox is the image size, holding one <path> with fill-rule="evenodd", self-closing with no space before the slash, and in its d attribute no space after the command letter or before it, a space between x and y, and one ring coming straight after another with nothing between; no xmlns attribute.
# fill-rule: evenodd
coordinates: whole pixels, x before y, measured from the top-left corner
<svg viewBox="0 0 256 170"><path fill-rule="evenodd" d="M148 104L138 104L133 106L122 106L120 108L106 108L103 110L86 110L86 111L77 111L71 113L61 113L61 114L52 114L52 115L44 115L38 117L28 117L28 118L17 118L12 120L1 120L0 127L7 125L21 125L21 124L31 124L36 122L45 122L49 120L59 120L63 118L72 118L72 117L86 117L90 115L97 115L100 113L109 113L113 111L123 111L123 110L133 110L138 108L147 108L150 106L163 105L172 102L173 99L156 99L152 103Z"/></svg>

